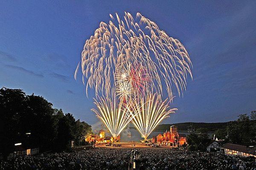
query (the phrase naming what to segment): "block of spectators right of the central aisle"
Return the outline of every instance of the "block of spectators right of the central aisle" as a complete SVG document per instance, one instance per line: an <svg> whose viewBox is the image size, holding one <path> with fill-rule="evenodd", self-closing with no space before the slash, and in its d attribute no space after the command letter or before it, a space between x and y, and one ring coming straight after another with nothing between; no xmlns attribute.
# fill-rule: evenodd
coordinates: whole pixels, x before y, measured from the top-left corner
<svg viewBox="0 0 256 170"><path fill-rule="evenodd" d="M139 149L139 170L256 170L255 158L163 148Z"/></svg>

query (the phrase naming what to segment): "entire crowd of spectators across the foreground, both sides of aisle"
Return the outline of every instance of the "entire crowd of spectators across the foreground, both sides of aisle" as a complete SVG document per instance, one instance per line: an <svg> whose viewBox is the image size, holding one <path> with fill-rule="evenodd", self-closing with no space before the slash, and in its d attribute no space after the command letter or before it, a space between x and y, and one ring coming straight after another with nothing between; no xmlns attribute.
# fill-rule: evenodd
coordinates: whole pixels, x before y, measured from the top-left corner
<svg viewBox="0 0 256 170"><path fill-rule="evenodd" d="M0 170L256 170L255 158L169 148L93 148L19 156L0 161Z"/></svg>

